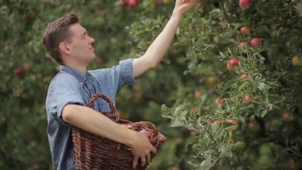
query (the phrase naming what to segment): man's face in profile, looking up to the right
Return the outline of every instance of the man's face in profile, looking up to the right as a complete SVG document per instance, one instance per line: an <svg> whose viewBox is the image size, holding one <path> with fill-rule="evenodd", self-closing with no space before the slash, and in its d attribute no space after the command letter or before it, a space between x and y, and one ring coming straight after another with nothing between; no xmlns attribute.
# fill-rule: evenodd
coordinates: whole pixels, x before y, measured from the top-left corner
<svg viewBox="0 0 302 170"><path fill-rule="evenodd" d="M77 60L88 64L95 59L94 48L92 44L94 39L89 37L85 28L80 24L73 24L69 28L71 32L71 43L68 44L71 51L72 60Z"/></svg>

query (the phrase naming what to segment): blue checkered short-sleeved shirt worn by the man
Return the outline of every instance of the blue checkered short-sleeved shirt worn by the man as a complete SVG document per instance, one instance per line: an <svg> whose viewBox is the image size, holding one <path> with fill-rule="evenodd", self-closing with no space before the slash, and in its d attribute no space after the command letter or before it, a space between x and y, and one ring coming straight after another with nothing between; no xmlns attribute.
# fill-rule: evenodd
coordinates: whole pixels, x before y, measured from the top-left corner
<svg viewBox="0 0 302 170"><path fill-rule="evenodd" d="M108 95L115 103L117 90L122 85L133 85L133 59L120 61L107 69L87 71L83 74L71 67L61 66L60 72L50 82L46 111L48 140L55 170L75 170L75 152L72 143L72 126L62 119L63 107L69 103L86 105L97 92ZM97 111L109 111L109 104L98 98Z"/></svg>

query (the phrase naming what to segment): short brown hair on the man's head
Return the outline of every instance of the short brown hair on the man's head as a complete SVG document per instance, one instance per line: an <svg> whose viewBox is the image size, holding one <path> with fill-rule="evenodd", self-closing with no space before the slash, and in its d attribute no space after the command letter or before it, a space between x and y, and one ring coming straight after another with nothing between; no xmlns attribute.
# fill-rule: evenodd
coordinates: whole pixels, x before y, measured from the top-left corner
<svg viewBox="0 0 302 170"><path fill-rule="evenodd" d="M62 41L70 41L71 33L68 28L79 22L79 17L75 14L68 14L47 25L43 33L43 43L48 54L59 64L63 64L59 44Z"/></svg>

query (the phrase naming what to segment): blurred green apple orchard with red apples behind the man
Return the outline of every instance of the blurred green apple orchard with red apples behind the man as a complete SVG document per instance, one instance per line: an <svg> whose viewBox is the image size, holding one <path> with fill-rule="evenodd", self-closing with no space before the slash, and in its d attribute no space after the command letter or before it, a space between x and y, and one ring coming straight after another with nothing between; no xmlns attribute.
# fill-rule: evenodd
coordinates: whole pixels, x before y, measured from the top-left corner
<svg viewBox="0 0 302 170"><path fill-rule="evenodd" d="M160 66L122 87L121 117L167 137L149 170L302 169L302 2L197 0ZM174 0L0 0L0 169L52 170L47 23L75 12L107 68L139 57Z"/></svg>

